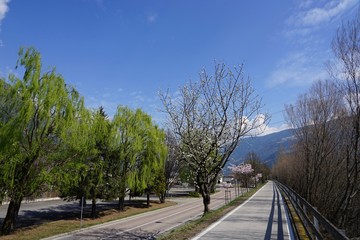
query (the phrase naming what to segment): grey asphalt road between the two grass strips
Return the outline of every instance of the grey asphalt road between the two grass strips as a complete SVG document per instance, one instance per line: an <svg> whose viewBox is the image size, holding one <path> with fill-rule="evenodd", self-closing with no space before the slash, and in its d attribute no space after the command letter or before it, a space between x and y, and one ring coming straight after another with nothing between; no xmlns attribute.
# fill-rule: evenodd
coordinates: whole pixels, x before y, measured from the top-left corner
<svg viewBox="0 0 360 240"><path fill-rule="evenodd" d="M232 189L232 198L234 189ZM184 222L202 215L202 198L173 198L179 204L159 209L133 217L120 219L47 238L47 240L60 239L155 239L155 236L171 230ZM211 209L219 208L225 204L224 189L211 196Z"/></svg>

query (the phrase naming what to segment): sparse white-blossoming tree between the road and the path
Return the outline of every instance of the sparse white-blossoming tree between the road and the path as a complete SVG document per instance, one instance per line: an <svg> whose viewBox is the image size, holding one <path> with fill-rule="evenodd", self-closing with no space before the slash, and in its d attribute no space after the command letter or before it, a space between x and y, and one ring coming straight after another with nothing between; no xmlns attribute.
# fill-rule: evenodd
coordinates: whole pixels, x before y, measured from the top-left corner
<svg viewBox="0 0 360 240"><path fill-rule="evenodd" d="M233 70L215 64L214 76L205 70L199 82L179 89L178 96L160 93L171 129L180 141L182 161L195 176L203 197L204 214L209 211L210 189L240 139L255 134L269 120L260 114L261 99L243 67Z"/></svg>

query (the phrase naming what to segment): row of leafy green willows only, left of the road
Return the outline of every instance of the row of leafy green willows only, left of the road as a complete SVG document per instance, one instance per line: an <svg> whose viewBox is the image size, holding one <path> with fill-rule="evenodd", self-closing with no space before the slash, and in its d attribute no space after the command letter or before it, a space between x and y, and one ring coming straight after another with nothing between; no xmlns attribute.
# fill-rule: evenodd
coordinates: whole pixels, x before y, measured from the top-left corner
<svg viewBox="0 0 360 240"><path fill-rule="evenodd" d="M68 199L119 199L157 184L167 157L165 132L141 109L118 106L112 120L54 69L43 73L34 48L21 49L23 77L0 79L0 200L10 200L2 234L16 226L24 197L50 188ZM161 186L163 186L161 188ZM149 204L149 201L148 201Z"/></svg>

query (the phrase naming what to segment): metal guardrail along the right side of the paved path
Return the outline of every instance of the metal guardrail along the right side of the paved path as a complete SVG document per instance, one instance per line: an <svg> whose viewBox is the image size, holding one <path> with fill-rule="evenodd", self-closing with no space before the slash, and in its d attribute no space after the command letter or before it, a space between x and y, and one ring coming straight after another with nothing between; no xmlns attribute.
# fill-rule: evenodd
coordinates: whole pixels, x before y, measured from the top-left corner
<svg viewBox="0 0 360 240"><path fill-rule="evenodd" d="M277 181L275 184L288 196L312 239L329 239L328 237L336 240L349 239L294 190Z"/></svg>

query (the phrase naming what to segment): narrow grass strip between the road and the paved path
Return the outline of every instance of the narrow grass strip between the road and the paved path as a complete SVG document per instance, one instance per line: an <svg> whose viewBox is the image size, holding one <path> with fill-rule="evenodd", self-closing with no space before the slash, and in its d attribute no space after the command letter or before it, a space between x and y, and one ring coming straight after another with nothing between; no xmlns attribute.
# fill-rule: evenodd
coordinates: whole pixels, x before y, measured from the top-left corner
<svg viewBox="0 0 360 240"><path fill-rule="evenodd" d="M199 219L189 221L186 224L174 228L169 232L163 233L159 235L156 239L179 240L179 239L189 239L195 237L197 234L199 234L205 228L210 226L212 223L219 220L221 217L223 217L224 215L235 209L240 204L244 203L264 185L265 184L259 184L256 188L250 189L249 192L246 192L243 195L239 196L238 198L235 198L229 204L219 209L210 211L208 214L206 214L205 216Z"/></svg>

